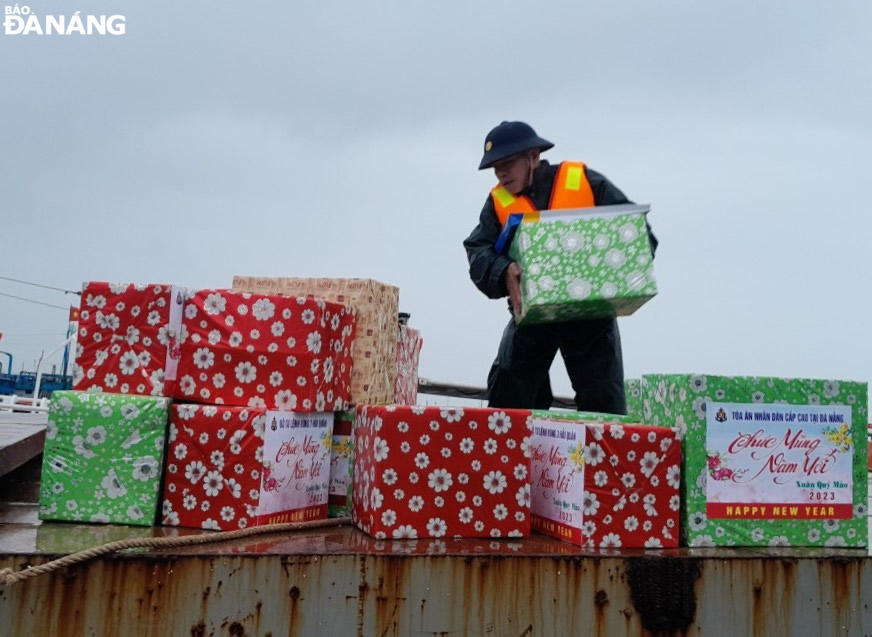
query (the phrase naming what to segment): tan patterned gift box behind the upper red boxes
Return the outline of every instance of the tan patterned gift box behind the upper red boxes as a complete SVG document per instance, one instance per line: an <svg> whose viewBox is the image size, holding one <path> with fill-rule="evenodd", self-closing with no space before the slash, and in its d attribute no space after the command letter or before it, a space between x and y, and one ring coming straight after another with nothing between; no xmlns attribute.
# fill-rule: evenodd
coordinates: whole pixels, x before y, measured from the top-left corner
<svg viewBox="0 0 872 637"><path fill-rule="evenodd" d="M311 295L353 307L357 311L357 335L352 347L350 402L355 405L393 402L399 288L373 279L235 276L233 290L282 296Z"/></svg>

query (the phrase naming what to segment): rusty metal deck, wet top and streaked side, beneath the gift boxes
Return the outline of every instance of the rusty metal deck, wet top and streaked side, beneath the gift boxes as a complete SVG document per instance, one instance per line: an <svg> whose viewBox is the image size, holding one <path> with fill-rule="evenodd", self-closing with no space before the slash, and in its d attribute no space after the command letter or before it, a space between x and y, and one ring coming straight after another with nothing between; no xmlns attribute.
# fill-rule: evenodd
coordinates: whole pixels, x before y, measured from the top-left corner
<svg viewBox="0 0 872 637"><path fill-rule="evenodd" d="M0 508L13 518L0 525L0 567L16 570L102 542L198 532L39 524L32 505ZM588 551L543 536L378 541L340 527L42 575L0 588L0 632L863 636L869 591L872 557L850 549Z"/></svg>

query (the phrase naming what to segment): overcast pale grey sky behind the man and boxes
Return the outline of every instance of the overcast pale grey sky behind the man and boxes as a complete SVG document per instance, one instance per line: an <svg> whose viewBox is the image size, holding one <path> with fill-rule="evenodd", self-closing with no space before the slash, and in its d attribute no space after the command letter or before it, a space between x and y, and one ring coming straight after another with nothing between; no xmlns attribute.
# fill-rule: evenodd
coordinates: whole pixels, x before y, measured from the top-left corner
<svg viewBox="0 0 872 637"><path fill-rule="evenodd" d="M484 384L508 314L461 242L484 136L522 119L652 204L628 376L868 380L872 4L714 4L35 0L127 33L0 33L0 276L372 277L423 376ZM0 349L31 369L65 321L0 297Z"/></svg>

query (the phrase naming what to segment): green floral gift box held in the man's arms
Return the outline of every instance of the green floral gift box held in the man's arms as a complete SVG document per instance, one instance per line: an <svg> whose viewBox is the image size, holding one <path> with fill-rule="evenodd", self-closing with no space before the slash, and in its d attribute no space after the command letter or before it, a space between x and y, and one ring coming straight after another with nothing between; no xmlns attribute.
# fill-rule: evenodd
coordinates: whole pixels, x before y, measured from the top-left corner
<svg viewBox="0 0 872 637"><path fill-rule="evenodd" d="M657 294L645 206L545 211L509 247L521 275L519 325L628 316Z"/></svg>

